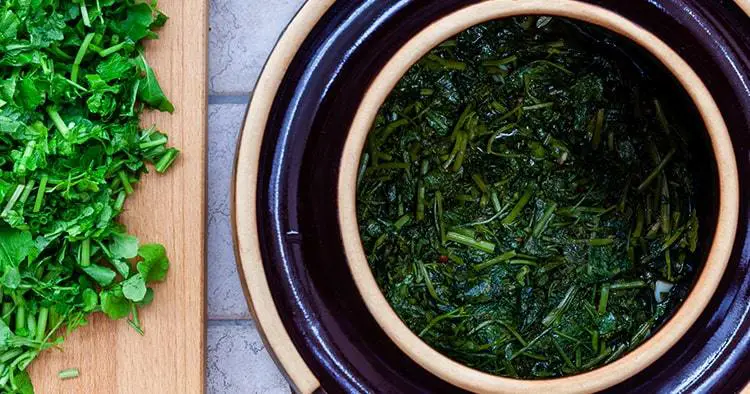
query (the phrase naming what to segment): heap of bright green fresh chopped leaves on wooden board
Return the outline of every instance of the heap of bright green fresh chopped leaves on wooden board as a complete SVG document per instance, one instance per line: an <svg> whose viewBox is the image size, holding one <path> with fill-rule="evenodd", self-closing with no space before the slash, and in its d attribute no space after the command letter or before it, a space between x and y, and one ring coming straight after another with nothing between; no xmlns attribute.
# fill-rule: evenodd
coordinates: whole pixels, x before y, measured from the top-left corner
<svg viewBox="0 0 750 394"><path fill-rule="evenodd" d="M139 125L144 108L173 110L143 54L167 21L156 6L0 5L0 392L32 393L27 366L92 313L142 333L165 278L164 247L117 222L146 165L178 154Z"/></svg>

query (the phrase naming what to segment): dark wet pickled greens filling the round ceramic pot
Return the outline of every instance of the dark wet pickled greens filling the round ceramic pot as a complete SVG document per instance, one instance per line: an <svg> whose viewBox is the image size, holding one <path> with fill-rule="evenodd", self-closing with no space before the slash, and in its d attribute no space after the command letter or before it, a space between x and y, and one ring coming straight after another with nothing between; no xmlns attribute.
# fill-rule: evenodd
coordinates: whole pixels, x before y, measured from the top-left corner
<svg viewBox="0 0 750 394"><path fill-rule="evenodd" d="M648 74L592 49L597 31L472 27L412 67L369 135L357 208L371 268L401 319L468 366L602 366L694 278L689 133Z"/></svg>

